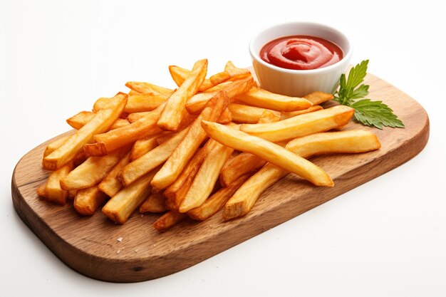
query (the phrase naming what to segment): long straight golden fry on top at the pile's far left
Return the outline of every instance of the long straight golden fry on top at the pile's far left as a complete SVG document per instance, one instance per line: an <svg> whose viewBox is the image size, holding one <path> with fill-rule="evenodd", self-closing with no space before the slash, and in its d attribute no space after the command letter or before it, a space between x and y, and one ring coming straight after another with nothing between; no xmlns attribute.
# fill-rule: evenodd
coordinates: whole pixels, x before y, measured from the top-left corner
<svg viewBox="0 0 446 297"><path fill-rule="evenodd" d="M58 147L58 149L44 157L43 167L48 170L56 170L73 160L76 153L82 150L82 147L92 140L93 135L105 132L113 125L123 111L125 103L127 103L127 94L118 93L115 95L110 100L110 103L105 105L90 122L71 135L61 147Z"/></svg>

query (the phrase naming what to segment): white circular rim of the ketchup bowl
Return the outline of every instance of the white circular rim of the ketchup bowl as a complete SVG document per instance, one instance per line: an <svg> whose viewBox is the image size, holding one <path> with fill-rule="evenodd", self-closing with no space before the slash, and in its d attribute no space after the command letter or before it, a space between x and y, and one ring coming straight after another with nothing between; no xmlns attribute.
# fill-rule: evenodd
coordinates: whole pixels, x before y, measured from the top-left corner
<svg viewBox="0 0 446 297"><path fill-rule="evenodd" d="M269 30L271 28L277 28L277 27L281 27L281 26L293 26L293 25L306 25L306 26L317 26L317 27L328 28L331 31L334 31L339 36L341 36L344 39L346 39L346 41L348 43L348 51L343 56L343 58L341 58L340 61L338 61L338 62L336 62L336 63L334 63L334 64L332 64L330 66L326 66L326 67L323 67L323 68L316 68L316 69L305 69L305 70L281 68L279 66L275 66L275 65L272 65L270 63L266 63L265 61L263 61L262 58L260 58L259 53L254 51L254 41L256 40L256 38L261 36L262 33L264 33L265 31L267 31L267 30ZM284 36L286 36L286 35L284 35ZM278 37L278 38L280 38L280 37ZM344 48L341 47L341 49L344 51ZM262 28L261 31L257 31L257 33L254 35L254 37L252 37L251 40L249 41L249 53L251 54L251 57L256 60L256 62L261 63L261 65L263 65L265 67L268 67L268 68L271 68L271 69L273 69L275 71L281 71L281 72L284 72L284 73L315 74L315 73L321 73L321 72L325 72L325 71L331 71L334 68L338 68L338 67L342 66L343 63L346 63L346 62L350 61L350 58L351 58L351 56L353 54L353 47L351 45L350 38L348 38L348 36L346 36L345 33L339 31L337 28L334 28L333 26L328 26L326 24L317 23L317 22L311 22L311 21L291 21L291 22L275 24L273 26L267 26L267 27Z"/></svg>

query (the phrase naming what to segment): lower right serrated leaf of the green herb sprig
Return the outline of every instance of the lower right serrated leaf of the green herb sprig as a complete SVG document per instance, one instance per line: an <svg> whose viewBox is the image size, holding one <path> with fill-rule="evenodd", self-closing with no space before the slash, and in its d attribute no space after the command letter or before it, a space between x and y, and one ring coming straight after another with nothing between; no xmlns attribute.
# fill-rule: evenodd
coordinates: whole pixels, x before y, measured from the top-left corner
<svg viewBox="0 0 446 297"><path fill-rule="evenodd" d="M383 126L400 127L404 124L393 113L393 110L382 101L372 101L370 99L358 100L353 105L355 108L355 119L363 125L383 129Z"/></svg>

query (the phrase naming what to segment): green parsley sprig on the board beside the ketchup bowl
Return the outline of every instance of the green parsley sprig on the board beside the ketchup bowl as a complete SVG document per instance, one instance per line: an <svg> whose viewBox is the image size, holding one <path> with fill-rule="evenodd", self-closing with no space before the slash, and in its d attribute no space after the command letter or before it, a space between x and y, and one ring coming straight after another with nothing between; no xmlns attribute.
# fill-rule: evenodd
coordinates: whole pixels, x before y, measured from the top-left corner
<svg viewBox="0 0 446 297"><path fill-rule="evenodd" d="M368 95L369 85L363 84L367 74L367 66L368 60L362 61L351 68L348 78L346 78L345 74L341 75L339 90L333 94L333 100L354 108L355 120L363 125L377 127L378 129L383 129L383 126L403 128L403 122L398 119L393 110L388 105L385 105L383 101L361 99Z"/></svg>

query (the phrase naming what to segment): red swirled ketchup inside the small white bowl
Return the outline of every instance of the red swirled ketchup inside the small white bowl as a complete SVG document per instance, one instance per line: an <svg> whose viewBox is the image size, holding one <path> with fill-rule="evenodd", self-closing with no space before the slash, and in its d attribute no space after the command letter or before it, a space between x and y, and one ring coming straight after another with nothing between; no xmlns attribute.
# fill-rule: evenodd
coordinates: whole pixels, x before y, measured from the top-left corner
<svg viewBox="0 0 446 297"><path fill-rule="evenodd" d="M343 58L342 49L323 38L285 36L269 41L260 50L266 63L286 69L308 70L330 66Z"/></svg>

